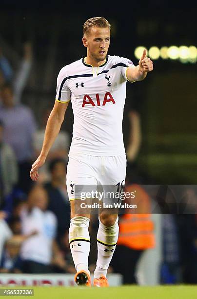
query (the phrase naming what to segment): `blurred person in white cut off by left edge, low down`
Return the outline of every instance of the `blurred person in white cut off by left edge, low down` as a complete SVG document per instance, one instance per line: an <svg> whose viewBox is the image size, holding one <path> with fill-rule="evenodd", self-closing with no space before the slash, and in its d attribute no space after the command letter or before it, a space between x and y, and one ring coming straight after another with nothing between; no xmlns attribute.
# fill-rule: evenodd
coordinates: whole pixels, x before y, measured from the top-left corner
<svg viewBox="0 0 197 299"><path fill-rule="evenodd" d="M0 211L0 260L2 256L2 250L5 242L12 237L12 232L7 225L4 218L6 217L6 213Z"/></svg>

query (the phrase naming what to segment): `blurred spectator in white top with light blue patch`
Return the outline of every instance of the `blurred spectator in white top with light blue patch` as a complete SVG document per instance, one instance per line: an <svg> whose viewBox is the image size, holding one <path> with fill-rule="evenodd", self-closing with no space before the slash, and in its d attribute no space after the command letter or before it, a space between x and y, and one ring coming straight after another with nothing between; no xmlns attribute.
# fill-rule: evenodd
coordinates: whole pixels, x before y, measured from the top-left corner
<svg viewBox="0 0 197 299"><path fill-rule="evenodd" d="M34 187L27 200L27 207L21 212L22 233L38 234L23 242L21 258L24 273L50 273L52 258L61 254L55 242L57 220L56 216L47 211L48 196L42 186Z"/></svg>

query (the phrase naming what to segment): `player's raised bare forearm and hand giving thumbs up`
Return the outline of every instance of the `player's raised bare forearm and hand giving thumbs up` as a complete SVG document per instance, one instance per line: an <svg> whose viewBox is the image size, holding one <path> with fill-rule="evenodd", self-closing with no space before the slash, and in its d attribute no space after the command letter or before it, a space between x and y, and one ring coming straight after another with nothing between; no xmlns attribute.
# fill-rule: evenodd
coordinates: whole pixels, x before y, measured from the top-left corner
<svg viewBox="0 0 197 299"><path fill-rule="evenodd" d="M148 72L153 70L153 62L149 57L146 57L146 50L143 50L143 54L139 60L137 66L131 65L126 70L126 77L129 81L141 81L146 78Z"/></svg>

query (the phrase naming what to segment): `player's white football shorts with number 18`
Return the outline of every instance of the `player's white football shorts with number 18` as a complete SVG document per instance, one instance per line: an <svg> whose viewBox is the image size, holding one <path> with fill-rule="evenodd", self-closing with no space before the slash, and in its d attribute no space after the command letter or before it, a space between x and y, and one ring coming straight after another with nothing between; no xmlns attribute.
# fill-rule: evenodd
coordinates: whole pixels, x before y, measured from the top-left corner
<svg viewBox="0 0 197 299"><path fill-rule="evenodd" d="M84 200L86 194L88 194L87 198L90 198L91 193L91 195L96 194L97 198L101 194L100 200L103 202L104 198L109 198L109 192L117 194L123 191L125 176L125 154L119 156L70 154L66 175L69 200L82 197ZM110 194L111 196L113 195Z"/></svg>

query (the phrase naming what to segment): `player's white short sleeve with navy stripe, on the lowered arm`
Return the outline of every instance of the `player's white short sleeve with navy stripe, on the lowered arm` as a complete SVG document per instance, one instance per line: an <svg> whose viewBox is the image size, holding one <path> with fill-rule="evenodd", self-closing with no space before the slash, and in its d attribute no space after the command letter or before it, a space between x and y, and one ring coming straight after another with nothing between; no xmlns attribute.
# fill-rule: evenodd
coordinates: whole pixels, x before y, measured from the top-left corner
<svg viewBox="0 0 197 299"><path fill-rule="evenodd" d="M58 102L67 103L70 101L71 91L67 86L67 78L66 67L64 66L57 78L56 101Z"/></svg>

